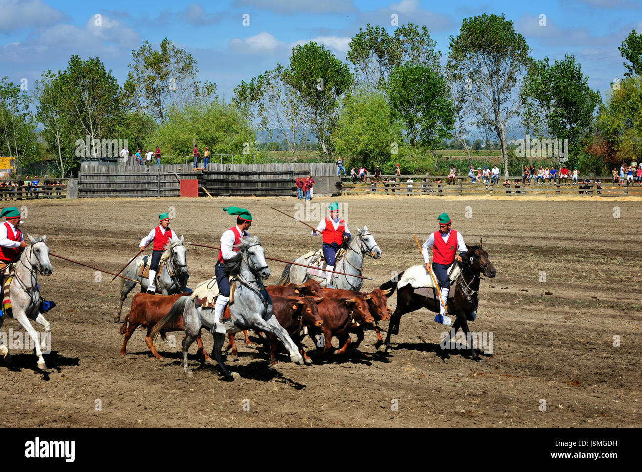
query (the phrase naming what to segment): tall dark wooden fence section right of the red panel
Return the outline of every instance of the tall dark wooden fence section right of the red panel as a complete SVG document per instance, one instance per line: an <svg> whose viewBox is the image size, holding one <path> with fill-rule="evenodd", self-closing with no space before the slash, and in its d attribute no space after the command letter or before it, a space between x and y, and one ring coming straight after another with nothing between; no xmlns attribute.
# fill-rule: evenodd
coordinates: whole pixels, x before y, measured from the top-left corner
<svg viewBox="0 0 642 472"><path fill-rule="evenodd" d="M296 195L297 177L336 175L334 164L207 164L199 187L213 196Z"/></svg>

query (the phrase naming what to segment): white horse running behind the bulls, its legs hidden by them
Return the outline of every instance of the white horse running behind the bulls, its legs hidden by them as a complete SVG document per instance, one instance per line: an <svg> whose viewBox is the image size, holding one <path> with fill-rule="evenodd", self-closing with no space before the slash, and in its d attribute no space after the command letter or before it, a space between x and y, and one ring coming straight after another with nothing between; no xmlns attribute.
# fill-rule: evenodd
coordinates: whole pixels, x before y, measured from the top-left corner
<svg viewBox="0 0 642 472"><path fill-rule="evenodd" d="M379 259L381 257L381 248L377 244L377 241L374 240L374 236L372 236L372 233L368 230L367 225L364 226L363 229L357 227L357 233L352 236L345 255L335 261L334 270L336 270L336 272L345 272L346 274L361 276L363 275L363 258L366 255L372 259ZM295 262L307 265L311 257L312 256L306 258L305 256L301 256L295 260ZM325 277L322 278L308 274L308 269L305 267L288 264L283 270L281 278L276 281L276 284L286 285L290 282L301 284L308 279L317 281L321 286L325 286L327 283ZM363 279L349 275L333 274L332 284L334 288L359 291L363 285Z"/></svg>

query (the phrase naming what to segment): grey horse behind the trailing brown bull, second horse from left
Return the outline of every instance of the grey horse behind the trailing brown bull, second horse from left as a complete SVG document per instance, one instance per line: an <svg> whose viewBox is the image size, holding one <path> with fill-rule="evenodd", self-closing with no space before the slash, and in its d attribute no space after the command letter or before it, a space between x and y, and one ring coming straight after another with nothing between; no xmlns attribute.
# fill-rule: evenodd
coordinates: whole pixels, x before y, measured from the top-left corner
<svg viewBox="0 0 642 472"><path fill-rule="evenodd" d="M185 292L185 287L187 286L187 256L186 247L183 245L183 241L183 236L180 236L180 240L170 239L168 245L166 245L165 249L169 249L169 257L165 265L160 270L160 274L157 278L158 284L156 287L156 293L162 293L162 295L174 295L175 293ZM138 256L130 263L130 265L127 266L125 277L139 281L141 283L141 292L146 292L150 281L147 277L139 277L138 275L140 267L139 261L143 258L148 258L148 264L152 261L152 256ZM128 293L131 292L135 286L136 284L134 282L121 278L120 285L118 286L118 292L121 297L118 309L116 310L116 315L114 316L114 323L120 321L120 315L123 311L123 302L125 302Z"/></svg>

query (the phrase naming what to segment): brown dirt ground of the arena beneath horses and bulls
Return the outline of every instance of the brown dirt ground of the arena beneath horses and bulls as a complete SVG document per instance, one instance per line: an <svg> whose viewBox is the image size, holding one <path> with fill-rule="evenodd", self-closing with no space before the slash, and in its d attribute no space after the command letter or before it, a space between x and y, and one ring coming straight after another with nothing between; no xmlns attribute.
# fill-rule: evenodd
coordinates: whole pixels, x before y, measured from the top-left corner
<svg viewBox="0 0 642 472"><path fill-rule="evenodd" d="M315 198L313 204L334 200ZM452 351L442 360L444 329L433 322L433 313L421 310L404 315L388 353L376 351L376 335L367 331L359 351L325 359L312 355L316 362L306 367L281 354L279 365L269 367L263 347L248 347L237 335L238 362L231 356L226 362L240 380L223 381L213 363L196 362L195 344L188 377L181 365L182 333L174 333L176 347L159 339L165 360L153 359L141 331L121 357L121 325L113 322L117 282L109 284L107 274L97 281L93 270L51 258L53 275L39 278L41 292L57 303L46 314L52 324L48 369L39 371L35 355L24 349L12 350L12 366L0 360L0 422L21 427L642 426L642 202L564 200L419 195L341 200L349 229L367 224L383 250L381 259L365 262L365 275L376 280L366 281L366 290L390 279L392 271L421 263L412 234L426 240L443 211L467 243L483 237L497 277L482 281L478 318L470 324L473 331L493 333L493 354L482 363L467 351ZM233 223L221 207L236 205L252 212L250 234L261 238L267 256L292 259L320 245L309 229L269 208L294 214L295 204L292 198L25 202L22 229L37 236L46 232L51 252L118 270L157 224L158 213L174 207L171 227L179 236L218 245ZM188 248L188 286L213 275L217 254ZM283 267L271 262L267 282ZM393 310L395 299L396 292L388 301ZM131 295L121 320L130 301ZM387 328L387 322L381 325ZM15 320L6 320L2 329L10 328L21 330ZM204 342L211 351L207 333ZM306 344L312 347L309 340Z"/></svg>

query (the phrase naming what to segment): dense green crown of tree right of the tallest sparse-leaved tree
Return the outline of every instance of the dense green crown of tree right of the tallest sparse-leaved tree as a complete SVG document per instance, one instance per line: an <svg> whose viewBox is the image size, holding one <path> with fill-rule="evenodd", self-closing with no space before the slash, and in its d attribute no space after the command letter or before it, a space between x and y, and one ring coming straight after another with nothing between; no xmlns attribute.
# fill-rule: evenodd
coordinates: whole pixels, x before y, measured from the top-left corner
<svg viewBox="0 0 642 472"><path fill-rule="evenodd" d="M588 80L573 55L565 55L552 66L548 58L534 62L521 91L526 128L535 134L568 139L569 148L578 150L601 101L600 92L591 90Z"/></svg>

